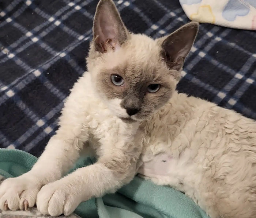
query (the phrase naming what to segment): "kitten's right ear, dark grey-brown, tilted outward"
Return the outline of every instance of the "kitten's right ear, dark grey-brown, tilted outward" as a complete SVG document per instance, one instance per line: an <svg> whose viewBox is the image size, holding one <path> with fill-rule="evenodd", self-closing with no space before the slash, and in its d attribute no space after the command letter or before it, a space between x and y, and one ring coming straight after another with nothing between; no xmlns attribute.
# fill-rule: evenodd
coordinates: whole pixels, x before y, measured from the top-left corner
<svg viewBox="0 0 256 218"><path fill-rule="evenodd" d="M170 69L178 71L182 69L185 57L195 41L198 26L197 22L190 22L172 34L158 39L162 47L163 59Z"/></svg>

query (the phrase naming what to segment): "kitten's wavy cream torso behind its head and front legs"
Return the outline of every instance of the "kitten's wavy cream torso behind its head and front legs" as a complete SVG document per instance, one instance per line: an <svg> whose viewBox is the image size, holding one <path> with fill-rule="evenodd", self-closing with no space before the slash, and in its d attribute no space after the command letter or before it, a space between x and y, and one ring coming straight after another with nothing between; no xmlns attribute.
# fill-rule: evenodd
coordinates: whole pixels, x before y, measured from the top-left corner
<svg viewBox="0 0 256 218"><path fill-rule="evenodd" d="M256 217L254 120L176 93L143 129L139 173L185 192L210 217Z"/></svg>

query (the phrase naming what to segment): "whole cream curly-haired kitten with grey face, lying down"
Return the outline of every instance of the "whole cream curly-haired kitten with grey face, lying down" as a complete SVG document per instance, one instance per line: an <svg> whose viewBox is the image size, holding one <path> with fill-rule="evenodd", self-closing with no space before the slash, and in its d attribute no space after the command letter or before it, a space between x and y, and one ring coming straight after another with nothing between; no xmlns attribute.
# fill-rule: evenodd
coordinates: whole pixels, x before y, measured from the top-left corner
<svg viewBox="0 0 256 218"><path fill-rule="evenodd" d="M1 184L0 209L36 202L43 214L68 215L139 172L184 191L211 218L256 217L255 121L175 91L197 30L191 22L155 40L132 34L101 0L88 72L33 169ZM83 149L97 162L61 178Z"/></svg>

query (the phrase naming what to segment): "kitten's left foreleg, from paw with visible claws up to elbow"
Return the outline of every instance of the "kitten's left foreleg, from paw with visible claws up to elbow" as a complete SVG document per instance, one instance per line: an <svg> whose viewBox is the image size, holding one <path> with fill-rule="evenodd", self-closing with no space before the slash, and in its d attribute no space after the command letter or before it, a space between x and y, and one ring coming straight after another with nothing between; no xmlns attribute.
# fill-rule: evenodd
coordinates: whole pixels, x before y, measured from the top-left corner
<svg viewBox="0 0 256 218"><path fill-rule="evenodd" d="M1 210L26 210L33 207L40 188L56 181L67 172L79 157L76 139L63 139L54 135L44 153L27 173L6 179L0 186Z"/></svg>

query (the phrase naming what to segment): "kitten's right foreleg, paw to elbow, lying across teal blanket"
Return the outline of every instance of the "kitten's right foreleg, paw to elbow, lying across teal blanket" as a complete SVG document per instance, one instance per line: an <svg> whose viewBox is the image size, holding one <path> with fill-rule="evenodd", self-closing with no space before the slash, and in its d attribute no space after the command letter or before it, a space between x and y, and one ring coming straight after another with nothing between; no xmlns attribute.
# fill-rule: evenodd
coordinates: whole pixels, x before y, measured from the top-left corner
<svg viewBox="0 0 256 218"><path fill-rule="evenodd" d="M72 174L50 183L39 191L37 207L43 214L69 215L83 201L115 192L136 174L140 149L129 146L128 151L111 149L97 163L79 168ZM133 152L131 152L133 151Z"/></svg>

